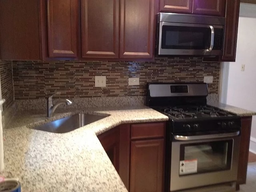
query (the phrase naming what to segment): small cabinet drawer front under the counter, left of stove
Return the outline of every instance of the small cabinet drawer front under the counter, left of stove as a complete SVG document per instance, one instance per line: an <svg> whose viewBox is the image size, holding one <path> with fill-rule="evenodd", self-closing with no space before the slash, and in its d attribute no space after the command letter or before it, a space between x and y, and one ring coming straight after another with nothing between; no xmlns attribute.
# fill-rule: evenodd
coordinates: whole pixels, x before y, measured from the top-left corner
<svg viewBox="0 0 256 192"><path fill-rule="evenodd" d="M160 138L165 135L165 122L131 125L131 138Z"/></svg>

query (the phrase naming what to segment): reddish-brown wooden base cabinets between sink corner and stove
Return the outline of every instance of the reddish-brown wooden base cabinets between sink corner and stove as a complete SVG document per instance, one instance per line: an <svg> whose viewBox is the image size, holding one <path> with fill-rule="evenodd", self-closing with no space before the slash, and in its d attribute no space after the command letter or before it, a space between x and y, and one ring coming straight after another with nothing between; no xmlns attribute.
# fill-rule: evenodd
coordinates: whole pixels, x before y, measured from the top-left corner
<svg viewBox="0 0 256 192"><path fill-rule="evenodd" d="M130 192L164 191L165 122L123 124L98 136Z"/></svg>

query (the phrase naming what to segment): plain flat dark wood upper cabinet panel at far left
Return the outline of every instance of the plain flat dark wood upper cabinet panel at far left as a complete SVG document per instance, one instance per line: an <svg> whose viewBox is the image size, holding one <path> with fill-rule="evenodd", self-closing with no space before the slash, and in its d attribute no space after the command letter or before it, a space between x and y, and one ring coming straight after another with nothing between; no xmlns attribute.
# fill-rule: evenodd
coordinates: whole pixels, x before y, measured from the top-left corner
<svg viewBox="0 0 256 192"><path fill-rule="evenodd" d="M0 0L2 60L41 58L38 6L37 0Z"/></svg>

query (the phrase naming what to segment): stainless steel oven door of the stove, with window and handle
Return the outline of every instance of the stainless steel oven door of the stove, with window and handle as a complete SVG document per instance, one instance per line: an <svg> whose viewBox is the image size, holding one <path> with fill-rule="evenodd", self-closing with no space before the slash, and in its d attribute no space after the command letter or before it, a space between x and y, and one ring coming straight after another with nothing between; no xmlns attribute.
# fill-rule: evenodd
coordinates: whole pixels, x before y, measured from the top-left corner
<svg viewBox="0 0 256 192"><path fill-rule="evenodd" d="M236 181L239 134L174 135L170 191Z"/></svg>

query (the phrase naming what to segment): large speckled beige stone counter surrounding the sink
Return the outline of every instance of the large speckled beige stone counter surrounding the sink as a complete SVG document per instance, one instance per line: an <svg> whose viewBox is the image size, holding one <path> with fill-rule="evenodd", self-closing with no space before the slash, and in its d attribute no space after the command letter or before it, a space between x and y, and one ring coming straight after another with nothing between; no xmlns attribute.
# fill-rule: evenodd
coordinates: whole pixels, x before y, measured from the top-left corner
<svg viewBox="0 0 256 192"><path fill-rule="evenodd" d="M68 133L31 129L78 112L110 116ZM159 122L167 116L147 108L122 107L17 113L4 128L4 172L19 178L23 192L127 192L96 135L124 123Z"/></svg>

